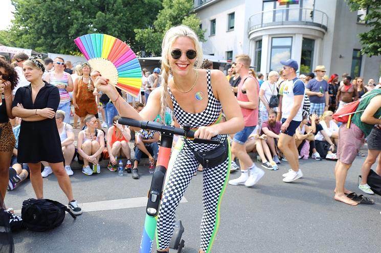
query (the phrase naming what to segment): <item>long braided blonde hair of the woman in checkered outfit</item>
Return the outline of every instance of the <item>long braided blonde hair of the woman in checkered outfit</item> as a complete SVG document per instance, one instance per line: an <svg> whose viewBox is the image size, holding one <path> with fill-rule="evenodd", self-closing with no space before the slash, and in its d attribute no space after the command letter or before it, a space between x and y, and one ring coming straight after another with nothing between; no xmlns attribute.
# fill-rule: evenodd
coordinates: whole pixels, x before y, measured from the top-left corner
<svg viewBox="0 0 381 253"><path fill-rule="evenodd" d="M179 37L188 37L190 38L193 43L194 47L197 51L197 57L195 61L195 68L200 68L201 64L203 64L203 49L201 48L198 37L196 33L190 29L187 26L180 25L176 27L170 28L164 35L163 43L162 43L162 77L163 77L163 90L162 90L162 96L160 99L161 103L161 111L160 116L162 117L162 120L164 122L165 117L165 111L168 107L168 103L171 100L169 93L168 93L168 77L169 73L171 72L171 68L169 65L169 57L170 57L170 49L174 41Z"/></svg>

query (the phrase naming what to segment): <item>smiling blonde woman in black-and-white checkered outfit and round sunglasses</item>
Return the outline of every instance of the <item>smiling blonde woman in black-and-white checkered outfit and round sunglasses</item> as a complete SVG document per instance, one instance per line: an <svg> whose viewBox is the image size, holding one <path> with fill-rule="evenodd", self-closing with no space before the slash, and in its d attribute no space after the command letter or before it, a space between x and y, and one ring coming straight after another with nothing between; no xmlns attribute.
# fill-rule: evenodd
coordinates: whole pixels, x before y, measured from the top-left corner
<svg viewBox="0 0 381 253"><path fill-rule="evenodd" d="M186 26L169 29L162 43L163 84L152 91L146 107L138 113L118 94L108 80L98 77L95 86L105 92L115 104L122 117L137 120L154 120L156 115L165 115L167 107L173 110L180 125L190 124L197 129L194 137L210 139L222 134L234 134L243 129L243 117L237 100L231 92L225 75L219 70L199 69L203 62L203 51L196 34ZM168 80L169 74L173 75ZM94 77L99 73L93 73ZM221 109L227 118L220 122ZM180 140L184 142L184 139ZM156 241L158 252L168 252L173 234L175 210L193 178L198 167L191 146L196 151L210 150L215 145L196 144L179 145L177 156L172 156L173 168L163 192ZM188 146L189 145L189 146ZM219 217L218 201L227 185L229 159L213 168L205 168L203 173L204 213L201 219L201 244L199 252L210 252L217 231ZM176 191L172 187L176 184Z"/></svg>

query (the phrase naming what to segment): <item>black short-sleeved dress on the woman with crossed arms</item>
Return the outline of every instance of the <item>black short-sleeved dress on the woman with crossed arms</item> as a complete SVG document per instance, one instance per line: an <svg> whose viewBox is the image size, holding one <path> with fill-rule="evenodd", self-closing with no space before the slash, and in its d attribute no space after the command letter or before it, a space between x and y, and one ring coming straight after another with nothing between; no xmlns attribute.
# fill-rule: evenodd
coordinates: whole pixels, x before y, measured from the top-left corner
<svg viewBox="0 0 381 253"><path fill-rule="evenodd" d="M59 104L58 88L44 82L45 85L38 91L34 104L32 102L32 86L17 89L12 107L17 104L25 109L52 108L57 111ZM61 140L55 118L41 121L21 121L18 136L17 162L38 163L63 162Z"/></svg>

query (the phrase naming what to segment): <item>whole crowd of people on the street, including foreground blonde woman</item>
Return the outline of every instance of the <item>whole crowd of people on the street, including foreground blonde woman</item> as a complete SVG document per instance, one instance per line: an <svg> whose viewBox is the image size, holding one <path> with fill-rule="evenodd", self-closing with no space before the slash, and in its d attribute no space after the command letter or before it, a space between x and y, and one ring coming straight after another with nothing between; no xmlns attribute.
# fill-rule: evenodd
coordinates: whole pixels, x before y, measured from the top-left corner
<svg viewBox="0 0 381 253"><path fill-rule="evenodd" d="M124 170L131 173L133 179L139 179L138 165L142 156L147 156L150 168L155 166L160 133L134 131L118 123L120 116L128 116L175 125L190 123L192 128L198 129L195 136L199 138L223 134L223 140L231 142L231 165L227 159L216 167L220 173L215 174L210 173L211 168L204 168L204 173L211 177L210 181L206 178L204 184L215 184L213 178L225 182L229 168L241 172L238 178L229 181L230 185L251 187L265 173L260 167L278 170L281 162L288 163L283 182L290 183L303 177L299 159L326 159L337 161L336 200L349 205L372 204L373 200L348 191L344 184L353 160L356 156L365 156L360 151L365 137L368 156L358 188L373 194L367 176L377 158L376 172L381 174L381 145L377 141L381 137L380 84L370 79L365 85L363 78L347 73L342 74L341 80L338 74L329 78L323 65L298 76L299 66L293 59L282 61L280 72L270 71L265 76L250 68L251 58L245 54L236 56L225 76L219 70L211 70L212 62L202 61L202 51L192 34L186 27L167 33L162 69L156 67L152 73L142 69L138 97L109 87L107 80L98 77L88 63L73 67L60 57L42 61L24 53L14 55L13 64L0 58L2 199L7 189L15 189L27 178L37 198L43 198L42 178L54 173L68 197L69 208L74 214L80 214L82 210L73 196L69 178L74 174L71 164L75 159L83 164L82 172L86 175L101 173L102 159L109 160L107 169L112 172L117 171L118 160L125 159ZM190 64L196 64L195 58L197 68L188 69ZM192 90L197 91L196 104L189 100L188 92ZM342 123L333 119L336 111L358 99L358 112L351 121ZM121 107L124 101L126 104ZM74 129L78 127L80 132L76 136ZM192 149L199 151L205 147L180 141L185 145L174 158L177 159L173 163L175 172L169 185L175 176L181 176L187 179L185 190L196 169L203 169L190 153ZM133 157L131 147L135 151ZM252 160L252 152L258 154L260 167ZM216 186L216 192L209 192L210 197L220 196L223 185ZM170 189L165 190L164 199L171 194ZM171 195L176 201L171 207L161 209L163 217L167 213L172 215L182 194L184 191ZM207 197L204 201L214 203ZM217 212L216 205L213 204L212 209ZM214 227L210 217L203 217L203 221L207 227ZM173 227L173 220L159 219L158 231L161 233L166 227ZM170 237L160 233L160 248L165 250ZM201 249L205 251L212 240L211 234L201 230L201 239L204 240Z"/></svg>

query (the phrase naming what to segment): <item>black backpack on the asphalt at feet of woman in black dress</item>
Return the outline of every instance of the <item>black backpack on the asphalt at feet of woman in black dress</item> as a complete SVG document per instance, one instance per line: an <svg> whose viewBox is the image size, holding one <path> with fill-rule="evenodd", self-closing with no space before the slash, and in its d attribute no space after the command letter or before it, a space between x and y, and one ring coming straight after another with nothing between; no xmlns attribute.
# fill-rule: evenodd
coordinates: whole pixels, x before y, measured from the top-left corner
<svg viewBox="0 0 381 253"><path fill-rule="evenodd" d="M21 217L27 229L42 232L59 226L65 218L65 212L76 219L69 208L58 201L30 198L23 201Z"/></svg>

